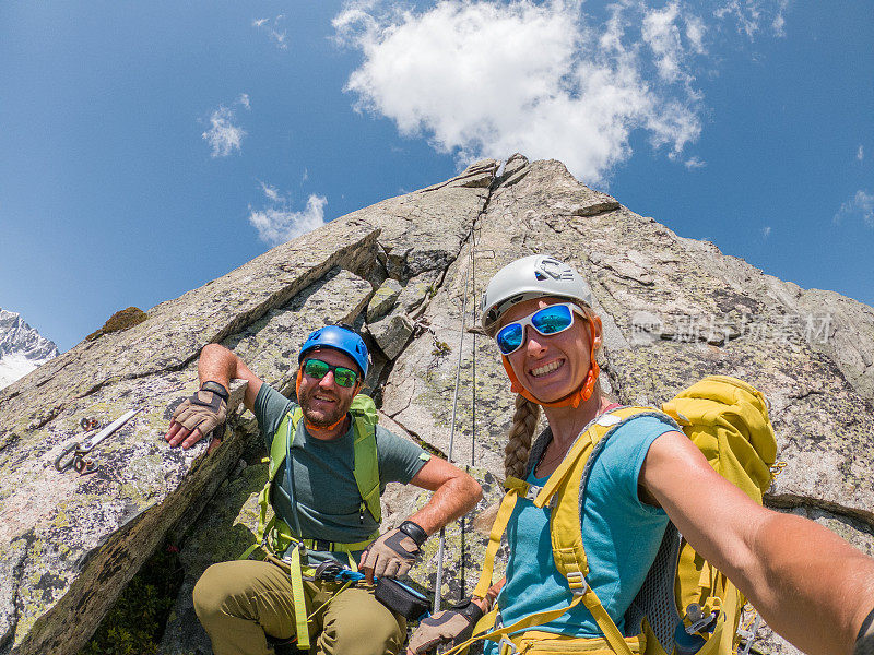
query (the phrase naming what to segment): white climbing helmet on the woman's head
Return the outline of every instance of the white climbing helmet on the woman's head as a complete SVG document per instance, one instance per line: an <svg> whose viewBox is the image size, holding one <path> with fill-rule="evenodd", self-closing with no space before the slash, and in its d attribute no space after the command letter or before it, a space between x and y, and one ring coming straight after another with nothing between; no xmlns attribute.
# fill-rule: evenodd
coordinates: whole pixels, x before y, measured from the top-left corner
<svg viewBox="0 0 874 655"><path fill-rule="evenodd" d="M495 335L498 319L510 307L531 298L555 296L592 306L592 290L568 264L546 254L531 254L498 271L483 294L482 325Z"/></svg>

